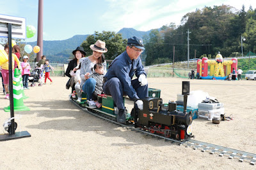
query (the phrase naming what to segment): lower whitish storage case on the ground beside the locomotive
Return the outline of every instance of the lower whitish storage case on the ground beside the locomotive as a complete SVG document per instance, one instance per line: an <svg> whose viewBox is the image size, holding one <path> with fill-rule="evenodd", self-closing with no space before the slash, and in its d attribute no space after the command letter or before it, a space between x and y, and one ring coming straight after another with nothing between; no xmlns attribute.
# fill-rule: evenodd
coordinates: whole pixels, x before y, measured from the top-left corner
<svg viewBox="0 0 256 170"><path fill-rule="evenodd" d="M207 119L212 121L213 116L220 116L221 114L225 113L225 109L214 109L214 110L207 110L207 109L198 109L198 117Z"/></svg>

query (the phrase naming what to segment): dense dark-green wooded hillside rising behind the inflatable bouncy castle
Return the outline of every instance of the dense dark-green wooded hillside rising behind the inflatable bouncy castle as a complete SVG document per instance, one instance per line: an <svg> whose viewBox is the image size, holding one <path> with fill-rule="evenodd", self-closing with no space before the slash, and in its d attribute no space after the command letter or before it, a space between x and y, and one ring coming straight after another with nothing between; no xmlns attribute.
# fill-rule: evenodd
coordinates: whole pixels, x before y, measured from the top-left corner
<svg viewBox="0 0 256 170"><path fill-rule="evenodd" d="M189 58L204 55L214 58L218 51L223 57L241 56L241 40L244 54L256 52L256 10L245 12L231 6L205 7L187 13L182 25L163 26L151 31L146 41L146 65L187 60L189 32Z"/></svg>

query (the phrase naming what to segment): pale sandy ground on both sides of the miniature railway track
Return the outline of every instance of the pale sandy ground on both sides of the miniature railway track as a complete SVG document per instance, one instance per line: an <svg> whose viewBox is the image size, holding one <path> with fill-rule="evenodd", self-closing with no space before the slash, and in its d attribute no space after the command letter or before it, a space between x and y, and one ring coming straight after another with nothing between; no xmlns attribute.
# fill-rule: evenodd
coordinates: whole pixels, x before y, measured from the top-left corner
<svg viewBox="0 0 256 170"><path fill-rule="evenodd" d="M25 91L31 111L15 112L20 130L31 137L0 142L0 169L253 169L248 162L230 160L166 143L125 130L83 112L68 101L67 77ZM177 100L182 81L149 78L161 89L164 102ZM195 140L256 153L256 81L191 80L191 91L203 90L225 104L234 120L193 121ZM1 108L9 105L0 88ZM127 106L131 107L131 102ZM0 110L0 134L10 112Z"/></svg>

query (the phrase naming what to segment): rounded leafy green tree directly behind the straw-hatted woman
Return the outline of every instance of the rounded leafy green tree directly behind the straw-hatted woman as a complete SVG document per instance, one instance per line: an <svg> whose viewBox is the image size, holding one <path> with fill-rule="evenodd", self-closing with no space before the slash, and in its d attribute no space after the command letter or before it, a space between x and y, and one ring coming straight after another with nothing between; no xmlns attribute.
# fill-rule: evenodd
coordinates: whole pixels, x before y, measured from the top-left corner
<svg viewBox="0 0 256 170"><path fill-rule="evenodd" d="M106 43L106 48L108 49L108 52L104 54L106 59L115 59L124 52L127 45L127 40L123 39L121 34L116 34L114 31L102 31L102 33L95 31L94 35L87 36L86 40L81 44L87 56L92 55L90 45L97 42L97 40L102 40Z"/></svg>

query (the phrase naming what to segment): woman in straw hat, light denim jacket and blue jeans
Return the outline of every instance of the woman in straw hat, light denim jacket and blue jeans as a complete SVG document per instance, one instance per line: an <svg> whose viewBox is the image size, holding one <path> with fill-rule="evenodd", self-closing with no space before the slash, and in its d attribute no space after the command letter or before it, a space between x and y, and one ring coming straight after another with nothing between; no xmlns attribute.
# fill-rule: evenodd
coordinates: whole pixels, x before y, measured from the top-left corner
<svg viewBox="0 0 256 170"><path fill-rule="evenodd" d="M108 49L106 48L106 43L100 40L97 40L95 44L90 45L90 49L93 50L92 55L88 56L88 58L81 59L81 89L83 89L83 92L87 94L89 107L95 108L96 105L93 101L95 99L92 100L92 94L95 90L96 81L95 79L90 78L90 75L93 73L93 67L97 63L103 65L106 73L107 64L103 53L108 52Z"/></svg>

